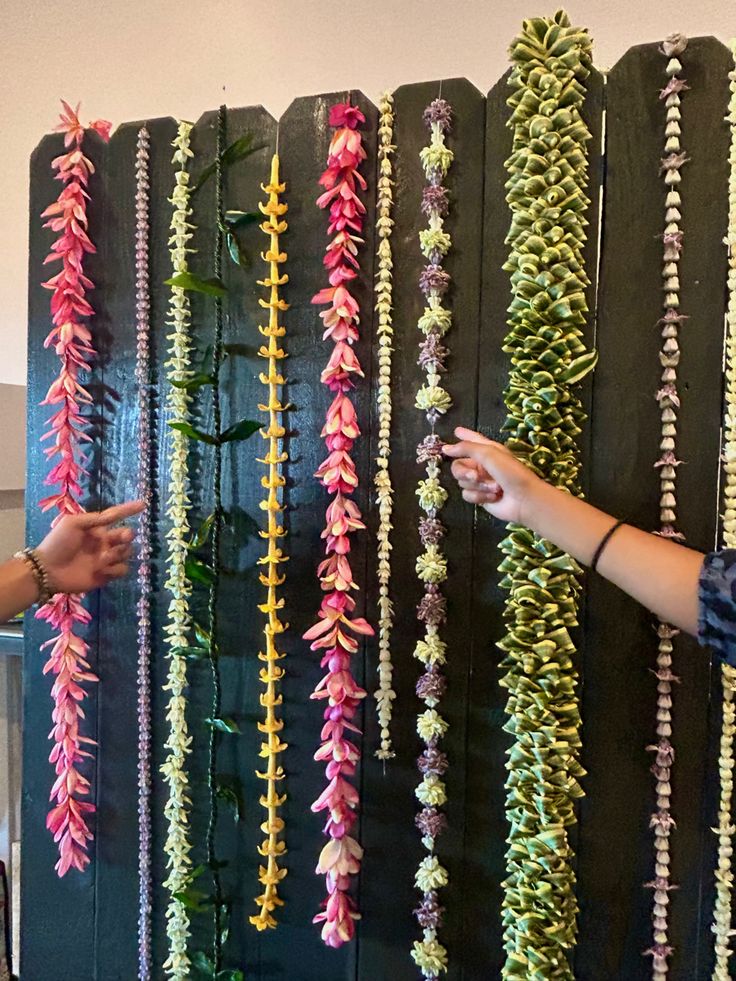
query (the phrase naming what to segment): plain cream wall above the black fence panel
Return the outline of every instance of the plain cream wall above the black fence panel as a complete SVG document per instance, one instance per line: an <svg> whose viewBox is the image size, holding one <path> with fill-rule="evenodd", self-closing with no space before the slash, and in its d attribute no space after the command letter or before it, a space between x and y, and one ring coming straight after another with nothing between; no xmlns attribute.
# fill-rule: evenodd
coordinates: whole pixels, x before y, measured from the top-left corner
<svg viewBox="0 0 736 981"><path fill-rule="evenodd" d="M223 101L280 114L298 95L464 75L487 90L524 16L558 0L3 0L0 382L25 382L27 166L58 97L84 121L196 119ZM569 0L596 64L673 31L736 34L733 0ZM34 216L34 220L37 220ZM38 270L36 275L41 275Z"/></svg>

